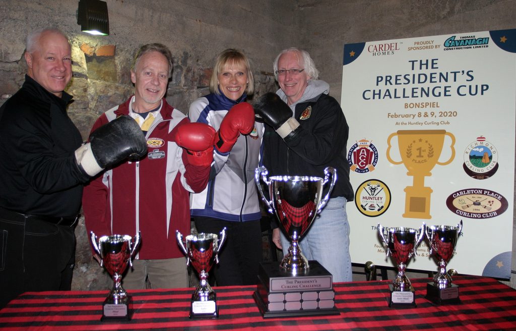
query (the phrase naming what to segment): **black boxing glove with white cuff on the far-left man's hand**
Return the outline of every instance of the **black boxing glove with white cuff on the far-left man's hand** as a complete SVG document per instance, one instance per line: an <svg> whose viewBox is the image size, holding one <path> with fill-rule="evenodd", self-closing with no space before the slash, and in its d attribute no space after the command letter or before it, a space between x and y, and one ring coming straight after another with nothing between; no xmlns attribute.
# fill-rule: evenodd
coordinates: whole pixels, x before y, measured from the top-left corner
<svg viewBox="0 0 516 331"><path fill-rule="evenodd" d="M147 154L147 142L138 123L130 116L119 116L90 135L89 143L75 151L75 159L85 174L95 176L108 166L128 157Z"/></svg>

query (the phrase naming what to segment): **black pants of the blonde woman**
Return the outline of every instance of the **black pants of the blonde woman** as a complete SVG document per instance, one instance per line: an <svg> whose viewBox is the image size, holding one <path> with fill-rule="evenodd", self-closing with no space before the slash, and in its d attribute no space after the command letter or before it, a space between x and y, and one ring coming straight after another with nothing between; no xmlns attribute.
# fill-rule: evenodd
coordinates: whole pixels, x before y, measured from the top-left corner
<svg viewBox="0 0 516 331"><path fill-rule="evenodd" d="M227 238L220 250L219 264L212 268L217 285L256 284L259 264L262 261L260 220L230 222L207 217L195 217L194 220L198 232L218 235L223 227L227 228Z"/></svg>

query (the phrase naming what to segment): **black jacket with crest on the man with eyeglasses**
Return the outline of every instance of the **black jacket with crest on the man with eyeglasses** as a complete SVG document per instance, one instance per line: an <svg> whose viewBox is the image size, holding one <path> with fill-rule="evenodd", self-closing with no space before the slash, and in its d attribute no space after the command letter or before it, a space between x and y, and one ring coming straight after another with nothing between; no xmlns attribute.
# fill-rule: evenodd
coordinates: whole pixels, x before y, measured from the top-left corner
<svg viewBox="0 0 516 331"><path fill-rule="evenodd" d="M330 197L353 201L346 157L349 127L341 106L328 94L320 94L297 104L294 118L300 124L299 132L285 141L269 125L265 126L263 164L268 176L324 178L324 169L334 167L337 181Z"/></svg>

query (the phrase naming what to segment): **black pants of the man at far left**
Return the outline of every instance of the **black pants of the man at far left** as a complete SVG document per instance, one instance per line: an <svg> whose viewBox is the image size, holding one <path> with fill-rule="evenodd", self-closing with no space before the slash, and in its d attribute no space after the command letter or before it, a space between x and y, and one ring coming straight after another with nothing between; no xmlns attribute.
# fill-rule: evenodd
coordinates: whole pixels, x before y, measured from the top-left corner
<svg viewBox="0 0 516 331"><path fill-rule="evenodd" d="M23 292L70 290L74 227L0 211L0 308Z"/></svg>

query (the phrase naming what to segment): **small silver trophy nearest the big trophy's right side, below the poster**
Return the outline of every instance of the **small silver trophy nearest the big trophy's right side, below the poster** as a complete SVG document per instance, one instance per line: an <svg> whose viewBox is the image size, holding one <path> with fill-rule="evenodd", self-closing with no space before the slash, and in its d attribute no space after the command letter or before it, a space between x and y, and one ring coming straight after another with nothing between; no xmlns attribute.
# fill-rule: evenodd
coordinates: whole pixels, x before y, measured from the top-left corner
<svg viewBox="0 0 516 331"><path fill-rule="evenodd" d="M425 237L426 225L423 223L420 229L412 228L384 228L378 223L378 234L385 244L386 257L391 256L398 266L398 274L392 284L389 307L396 305L414 305L414 288L405 274L407 263L417 255L416 248Z"/></svg>

